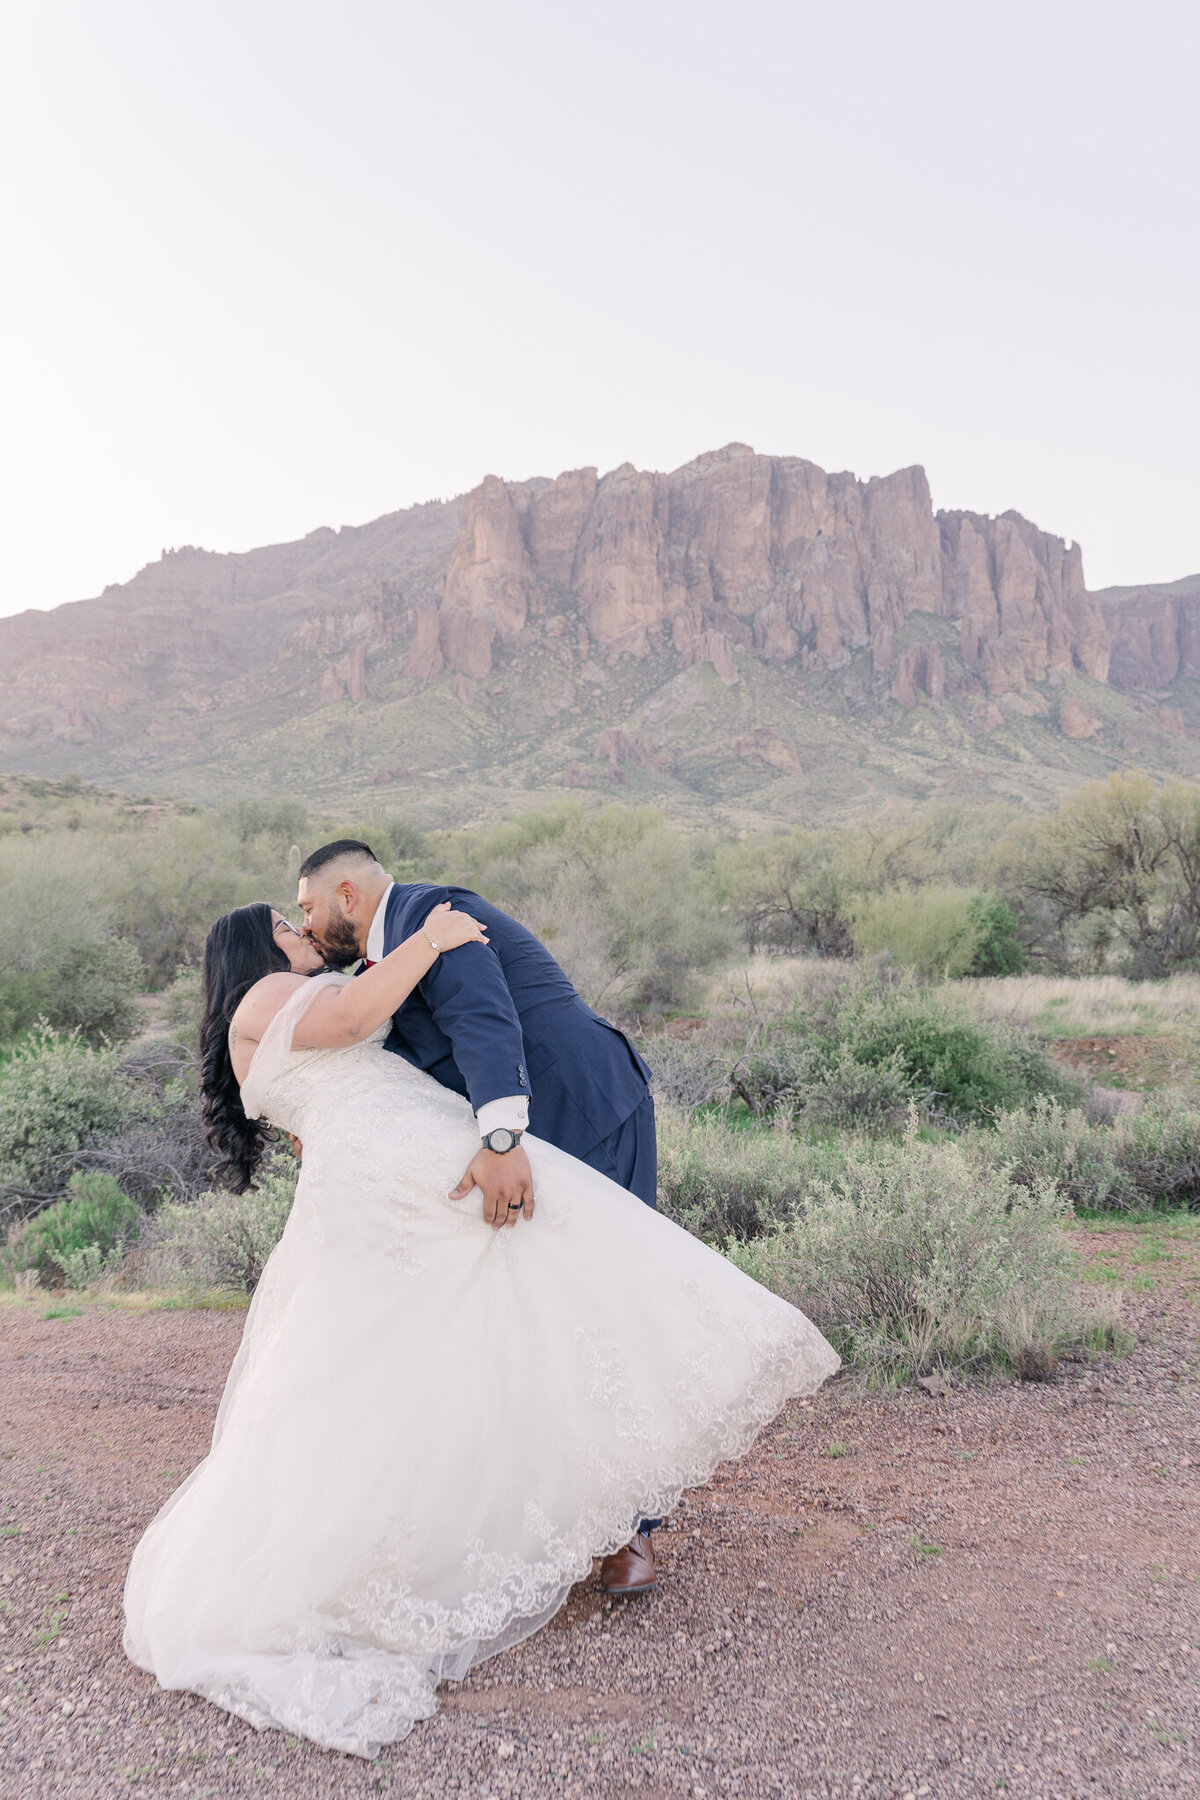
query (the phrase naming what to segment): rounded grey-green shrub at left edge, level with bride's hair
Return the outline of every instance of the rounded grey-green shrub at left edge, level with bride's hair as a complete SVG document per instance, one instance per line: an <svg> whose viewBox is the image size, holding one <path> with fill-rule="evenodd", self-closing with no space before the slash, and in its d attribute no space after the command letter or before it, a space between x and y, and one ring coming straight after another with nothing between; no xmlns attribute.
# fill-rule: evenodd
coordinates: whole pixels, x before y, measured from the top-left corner
<svg viewBox="0 0 1200 1800"><path fill-rule="evenodd" d="M130 1111L117 1049L34 1030L0 1069L0 1204L54 1199L79 1148Z"/></svg>

